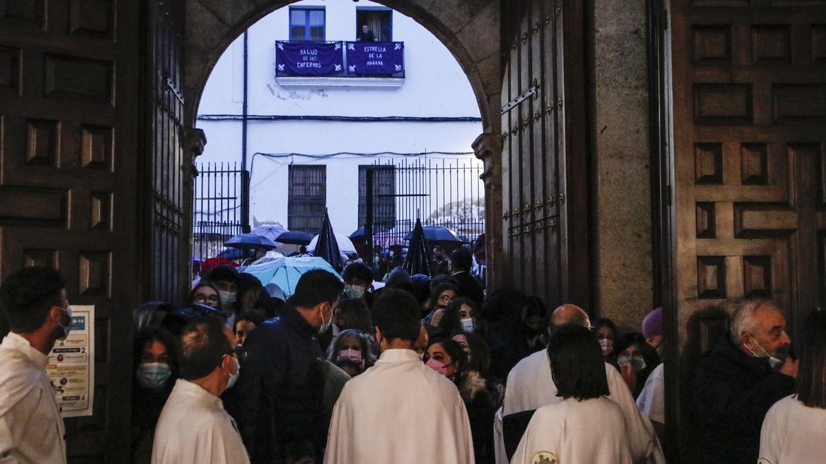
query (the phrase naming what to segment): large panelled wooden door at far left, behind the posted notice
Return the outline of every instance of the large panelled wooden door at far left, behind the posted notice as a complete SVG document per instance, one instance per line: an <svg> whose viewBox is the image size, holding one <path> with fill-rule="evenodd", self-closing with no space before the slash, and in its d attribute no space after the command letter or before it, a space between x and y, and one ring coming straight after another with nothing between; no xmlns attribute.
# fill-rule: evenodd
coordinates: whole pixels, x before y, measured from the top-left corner
<svg viewBox="0 0 826 464"><path fill-rule="evenodd" d="M73 462L127 462L138 303L140 2L0 2L0 277L59 269L95 305L94 415Z"/></svg>

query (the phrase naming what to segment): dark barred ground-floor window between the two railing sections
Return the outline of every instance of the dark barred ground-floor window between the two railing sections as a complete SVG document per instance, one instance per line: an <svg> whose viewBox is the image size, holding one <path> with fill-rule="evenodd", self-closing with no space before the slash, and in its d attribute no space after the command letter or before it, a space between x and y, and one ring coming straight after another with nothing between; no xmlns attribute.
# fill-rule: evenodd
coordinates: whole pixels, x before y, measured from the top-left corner
<svg viewBox="0 0 826 464"><path fill-rule="evenodd" d="M292 164L288 176L287 229L318 234L327 206L326 166Z"/></svg>

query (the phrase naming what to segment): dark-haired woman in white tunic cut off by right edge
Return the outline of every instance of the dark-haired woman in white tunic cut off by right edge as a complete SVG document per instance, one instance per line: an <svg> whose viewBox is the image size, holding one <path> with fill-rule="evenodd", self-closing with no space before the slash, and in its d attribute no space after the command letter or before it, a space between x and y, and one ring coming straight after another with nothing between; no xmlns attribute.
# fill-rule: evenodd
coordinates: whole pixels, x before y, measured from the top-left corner
<svg viewBox="0 0 826 464"><path fill-rule="evenodd" d="M823 462L826 457L826 312L802 325L795 394L771 406L760 433L760 462Z"/></svg>

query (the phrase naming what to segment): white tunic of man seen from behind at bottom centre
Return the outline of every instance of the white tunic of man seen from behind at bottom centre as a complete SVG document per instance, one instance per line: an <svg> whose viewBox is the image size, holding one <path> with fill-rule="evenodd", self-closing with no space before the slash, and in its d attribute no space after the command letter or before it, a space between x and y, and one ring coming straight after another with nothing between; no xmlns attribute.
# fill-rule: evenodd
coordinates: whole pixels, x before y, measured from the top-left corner
<svg viewBox="0 0 826 464"><path fill-rule="evenodd" d="M373 367L344 385L324 462L474 462L458 389L414 351L385 350Z"/></svg>

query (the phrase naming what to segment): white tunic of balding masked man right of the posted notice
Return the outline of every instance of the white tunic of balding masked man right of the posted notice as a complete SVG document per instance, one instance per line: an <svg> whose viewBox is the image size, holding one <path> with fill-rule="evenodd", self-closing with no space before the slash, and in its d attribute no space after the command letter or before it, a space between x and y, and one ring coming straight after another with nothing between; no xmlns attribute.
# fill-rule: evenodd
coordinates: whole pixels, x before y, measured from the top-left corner
<svg viewBox="0 0 826 464"><path fill-rule="evenodd" d="M235 420L221 398L178 379L155 427L153 464L248 464Z"/></svg>

